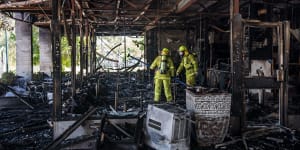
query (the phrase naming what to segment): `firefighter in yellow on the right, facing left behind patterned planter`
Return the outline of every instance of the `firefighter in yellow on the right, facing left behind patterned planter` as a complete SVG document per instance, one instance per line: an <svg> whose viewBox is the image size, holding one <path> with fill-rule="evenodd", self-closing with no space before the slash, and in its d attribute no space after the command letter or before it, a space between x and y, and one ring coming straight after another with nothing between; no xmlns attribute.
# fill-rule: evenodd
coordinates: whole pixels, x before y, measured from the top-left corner
<svg viewBox="0 0 300 150"><path fill-rule="evenodd" d="M176 71L176 76L179 76L184 68L187 86L194 86L196 84L196 76L198 75L197 61L184 45L181 45L178 51L179 55L182 57L182 60Z"/></svg>

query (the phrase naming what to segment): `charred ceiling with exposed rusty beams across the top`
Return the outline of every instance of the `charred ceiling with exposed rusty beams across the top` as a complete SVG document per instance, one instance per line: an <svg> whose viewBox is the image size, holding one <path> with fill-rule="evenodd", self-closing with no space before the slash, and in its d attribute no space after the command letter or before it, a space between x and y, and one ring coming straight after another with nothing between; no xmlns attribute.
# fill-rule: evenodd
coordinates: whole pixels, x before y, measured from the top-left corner
<svg viewBox="0 0 300 150"><path fill-rule="evenodd" d="M257 9L255 17L261 17L266 11L276 15L288 8L299 8L300 2L241 0L240 12L245 18L251 17L250 4L256 6L251 8ZM0 10L12 18L13 13L22 13L24 17L15 19L41 27L49 27L52 18L51 0L2 0ZM62 0L60 10L62 25L71 24L74 13L77 25L87 19L98 35L139 35L156 27L183 29L199 19L208 19L223 28L229 25L229 0Z"/></svg>

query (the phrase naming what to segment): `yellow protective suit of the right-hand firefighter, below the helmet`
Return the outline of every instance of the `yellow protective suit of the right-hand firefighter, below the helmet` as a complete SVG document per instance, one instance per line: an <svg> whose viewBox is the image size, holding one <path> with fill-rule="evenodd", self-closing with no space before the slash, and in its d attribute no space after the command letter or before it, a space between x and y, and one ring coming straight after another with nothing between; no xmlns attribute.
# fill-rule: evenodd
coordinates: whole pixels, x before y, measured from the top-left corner
<svg viewBox="0 0 300 150"><path fill-rule="evenodd" d="M196 83L196 74L198 73L198 64L194 58L194 55L186 53L183 56L176 74L180 74L183 68L185 69L187 85L194 85Z"/></svg>

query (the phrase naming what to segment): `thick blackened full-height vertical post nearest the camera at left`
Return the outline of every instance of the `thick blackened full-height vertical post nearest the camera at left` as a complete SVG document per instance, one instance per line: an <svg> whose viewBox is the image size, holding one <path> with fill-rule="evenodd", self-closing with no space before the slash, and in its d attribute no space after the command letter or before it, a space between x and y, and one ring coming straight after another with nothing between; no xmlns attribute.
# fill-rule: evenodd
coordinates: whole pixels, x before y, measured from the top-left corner
<svg viewBox="0 0 300 150"><path fill-rule="evenodd" d="M54 101L53 101L53 119L61 119L61 50L60 50L60 25L59 10L60 0L52 1L52 56L53 56L53 80L54 80Z"/></svg>

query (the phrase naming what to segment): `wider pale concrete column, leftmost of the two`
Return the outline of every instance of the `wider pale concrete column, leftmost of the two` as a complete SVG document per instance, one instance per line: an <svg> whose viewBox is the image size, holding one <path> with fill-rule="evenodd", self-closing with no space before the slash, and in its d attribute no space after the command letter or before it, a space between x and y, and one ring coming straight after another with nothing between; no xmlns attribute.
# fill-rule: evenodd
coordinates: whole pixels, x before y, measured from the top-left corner
<svg viewBox="0 0 300 150"><path fill-rule="evenodd" d="M16 72L26 79L32 77L32 26L29 23L16 20Z"/></svg>

